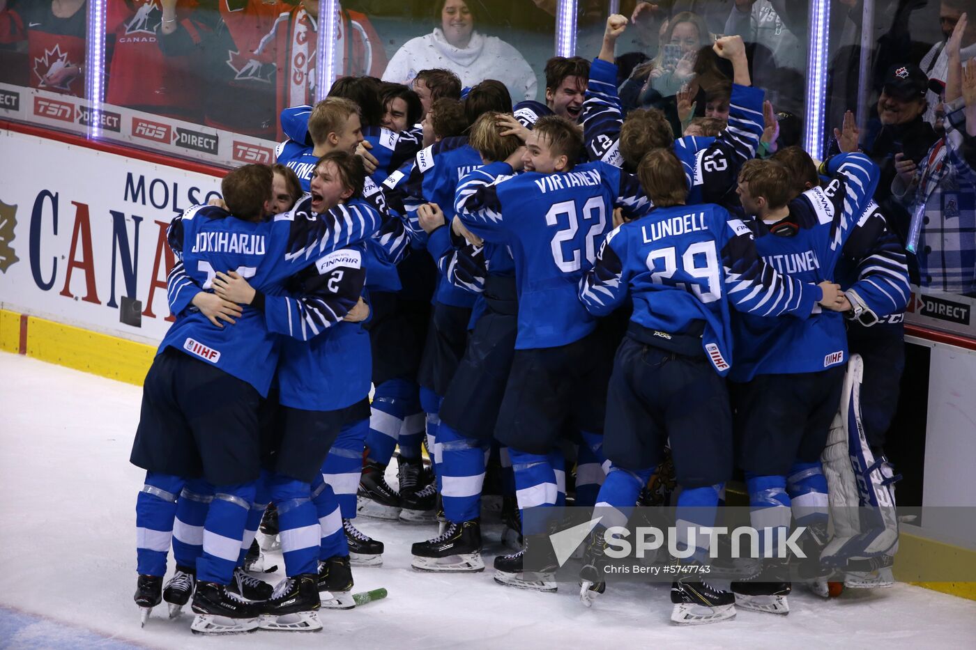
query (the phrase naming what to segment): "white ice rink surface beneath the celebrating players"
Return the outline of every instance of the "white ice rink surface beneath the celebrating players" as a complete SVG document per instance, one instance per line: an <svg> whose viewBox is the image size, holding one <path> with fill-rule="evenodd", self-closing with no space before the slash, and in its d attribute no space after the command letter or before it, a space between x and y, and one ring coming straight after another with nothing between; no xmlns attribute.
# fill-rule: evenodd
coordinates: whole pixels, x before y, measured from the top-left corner
<svg viewBox="0 0 976 650"><path fill-rule="evenodd" d="M189 615L170 621L163 607L140 629L132 594L144 474L128 458L141 388L6 352L0 378L3 648L976 647L976 602L928 589L847 590L829 601L795 589L787 617L740 611L731 622L676 628L663 585L612 585L589 610L571 586L552 594L496 585L497 526L486 531L484 573L433 575L410 568L410 543L432 537L434 524L362 517L356 525L386 553L384 566L354 569L355 590L389 595L323 610L321 632L201 637ZM268 559L283 566L280 555Z"/></svg>

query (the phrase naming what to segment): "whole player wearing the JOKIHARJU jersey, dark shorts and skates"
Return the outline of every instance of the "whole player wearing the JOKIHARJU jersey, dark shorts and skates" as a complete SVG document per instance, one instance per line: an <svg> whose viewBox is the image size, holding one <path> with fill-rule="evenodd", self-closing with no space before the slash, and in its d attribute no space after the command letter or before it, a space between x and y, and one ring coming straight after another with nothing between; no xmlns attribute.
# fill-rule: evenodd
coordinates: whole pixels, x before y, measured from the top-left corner
<svg viewBox="0 0 976 650"><path fill-rule="evenodd" d="M234 269L265 293L276 295L291 275L361 241L379 225L375 212L348 219L331 213L316 216L305 206L265 222L272 178L270 169L260 165L227 175L224 200L241 217L221 208L194 206L171 224L170 245L195 282L209 289L219 270ZM335 305L320 326L342 317L343 304ZM352 304L354 299L346 308ZM258 402L270 385L277 354L275 338L257 310L243 310L233 327L224 328L189 312L170 328L146 376L130 459L147 470L137 500L136 601L144 608L159 603L175 502L186 479L202 475L214 486L215 496L196 566L199 583L193 610L200 615L194 621L198 631L257 626L260 607L228 593L226 585L255 498ZM220 407L201 405L200 394L214 391L222 397ZM230 624L224 626L215 617Z"/></svg>

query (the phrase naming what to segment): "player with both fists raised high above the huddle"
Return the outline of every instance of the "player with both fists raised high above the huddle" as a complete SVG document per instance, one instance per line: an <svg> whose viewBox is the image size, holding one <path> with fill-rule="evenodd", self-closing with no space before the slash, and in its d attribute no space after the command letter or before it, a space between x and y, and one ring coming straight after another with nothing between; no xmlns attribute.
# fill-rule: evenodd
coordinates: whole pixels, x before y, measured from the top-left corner
<svg viewBox="0 0 976 650"><path fill-rule="evenodd" d="M739 36L724 36L712 47L732 62L733 85L726 129L715 139L674 140L671 125L657 109L635 109L624 119L617 95L614 47L627 27L623 16L611 16L599 57L590 66L590 85L583 105L583 130L590 160L602 160L634 171L653 148L673 148L685 170L688 203L738 207L734 188L742 164L755 155L763 130L762 90L752 88L746 48Z"/></svg>

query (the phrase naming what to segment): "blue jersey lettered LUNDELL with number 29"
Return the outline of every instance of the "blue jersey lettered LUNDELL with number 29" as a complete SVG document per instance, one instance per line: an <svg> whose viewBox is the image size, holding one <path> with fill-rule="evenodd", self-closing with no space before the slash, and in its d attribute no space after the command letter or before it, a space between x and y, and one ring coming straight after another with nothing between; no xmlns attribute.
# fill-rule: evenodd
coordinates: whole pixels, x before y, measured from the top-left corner
<svg viewBox="0 0 976 650"><path fill-rule="evenodd" d="M757 316L806 318L822 292L764 264L745 223L702 204L654 208L610 232L579 296L595 316L630 296L630 320L664 347L674 335L704 329L702 348L724 376L734 367L730 304Z"/></svg>

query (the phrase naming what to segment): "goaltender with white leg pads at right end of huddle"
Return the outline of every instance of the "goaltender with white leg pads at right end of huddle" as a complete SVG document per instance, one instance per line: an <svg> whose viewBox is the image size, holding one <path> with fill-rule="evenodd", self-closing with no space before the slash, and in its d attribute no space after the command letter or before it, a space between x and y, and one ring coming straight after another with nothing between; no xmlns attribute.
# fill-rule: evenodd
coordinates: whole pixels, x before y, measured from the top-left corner
<svg viewBox="0 0 976 650"><path fill-rule="evenodd" d="M852 114L845 115L844 125L845 131L854 129ZM821 183L817 166L799 147L782 149L773 160L790 173L796 195ZM819 576L810 586L825 597L825 574L833 571L843 574L848 587L889 586L891 569L885 564L897 548L897 522L884 516L893 511L895 473L883 445L905 365L904 319L911 287L905 247L874 201L844 244L835 276L847 300L850 357L840 411L822 455L835 508L834 538L827 538L827 508L820 497L819 520L807 524L814 534L805 548L812 569L806 573ZM858 481L858 475L866 475L865 480ZM851 516L862 504L881 516Z"/></svg>

